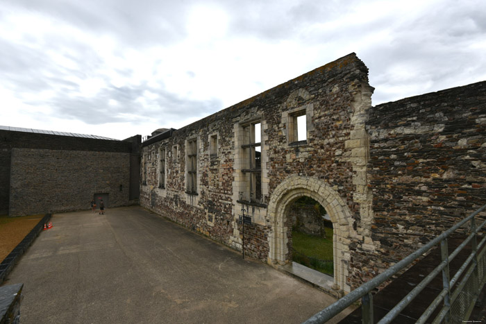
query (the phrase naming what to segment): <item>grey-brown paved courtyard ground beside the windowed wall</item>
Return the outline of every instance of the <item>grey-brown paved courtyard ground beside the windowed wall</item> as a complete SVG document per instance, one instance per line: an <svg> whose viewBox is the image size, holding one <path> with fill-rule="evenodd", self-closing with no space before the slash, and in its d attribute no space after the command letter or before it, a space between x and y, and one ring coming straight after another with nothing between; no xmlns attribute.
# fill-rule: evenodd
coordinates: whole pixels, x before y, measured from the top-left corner
<svg viewBox="0 0 486 324"><path fill-rule="evenodd" d="M4 284L22 323L301 323L334 298L140 207L55 214Z"/></svg>

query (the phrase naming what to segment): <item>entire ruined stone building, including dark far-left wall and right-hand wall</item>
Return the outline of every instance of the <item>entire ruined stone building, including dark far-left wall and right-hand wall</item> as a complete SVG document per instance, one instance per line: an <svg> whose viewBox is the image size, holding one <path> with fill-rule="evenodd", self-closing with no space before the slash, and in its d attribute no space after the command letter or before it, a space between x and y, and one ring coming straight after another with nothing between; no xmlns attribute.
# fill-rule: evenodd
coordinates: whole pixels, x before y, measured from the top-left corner
<svg viewBox="0 0 486 324"><path fill-rule="evenodd" d="M269 264L292 261L292 205L333 223L349 292L486 204L486 82L372 106L354 53L140 144L0 129L0 210L138 203ZM140 180L140 182L139 182Z"/></svg>

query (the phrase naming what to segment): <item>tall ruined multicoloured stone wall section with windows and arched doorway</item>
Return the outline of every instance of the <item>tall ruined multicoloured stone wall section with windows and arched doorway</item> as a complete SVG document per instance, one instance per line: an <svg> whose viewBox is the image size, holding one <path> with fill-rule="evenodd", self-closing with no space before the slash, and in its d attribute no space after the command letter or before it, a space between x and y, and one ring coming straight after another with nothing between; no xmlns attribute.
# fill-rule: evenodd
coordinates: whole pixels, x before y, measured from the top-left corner
<svg viewBox="0 0 486 324"><path fill-rule="evenodd" d="M362 172L367 142L360 132L373 90L367 71L352 53L180 130L152 137L142 144L141 205L238 250L242 225L237 219L244 207L252 219L252 225L245 226L245 254L274 264L291 260L287 236L292 226L283 225L287 212L278 211L301 196L315 195L312 198L336 224L337 264L347 269L349 240L371 241L362 229L362 219L369 224L369 213L362 216L363 206L371 205L363 185L365 169ZM307 136L298 141L294 130L301 115ZM258 123L261 171L256 173L261 172L261 181L255 190L261 198L253 201L247 192L253 171L248 170L245 138ZM186 187L187 143L192 139L197 146L196 193L188 193ZM163 184L161 165L165 165ZM269 210L276 188L295 175L298 180L279 189L280 198ZM289 196L292 201L286 200ZM340 277L335 280L341 285L337 289L349 291L344 287L347 271L335 273Z"/></svg>

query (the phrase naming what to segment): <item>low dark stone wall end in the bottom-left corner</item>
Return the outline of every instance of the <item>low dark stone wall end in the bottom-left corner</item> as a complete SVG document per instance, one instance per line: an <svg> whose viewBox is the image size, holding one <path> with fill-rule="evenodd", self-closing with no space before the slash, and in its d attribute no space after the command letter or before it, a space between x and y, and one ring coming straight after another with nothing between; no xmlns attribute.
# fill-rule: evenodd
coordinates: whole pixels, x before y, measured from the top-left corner
<svg viewBox="0 0 486 324"><path fill-rule="evenodd" d="M12 284L0 287L0 323L20 323L20 302L24 284Z"/></svg>

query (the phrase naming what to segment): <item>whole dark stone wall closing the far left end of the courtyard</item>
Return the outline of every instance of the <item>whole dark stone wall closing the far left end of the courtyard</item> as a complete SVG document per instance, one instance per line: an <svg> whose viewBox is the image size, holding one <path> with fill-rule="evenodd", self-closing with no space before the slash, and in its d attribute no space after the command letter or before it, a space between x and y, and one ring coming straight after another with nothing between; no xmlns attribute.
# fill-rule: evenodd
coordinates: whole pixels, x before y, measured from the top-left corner
<svg viewBox="0 0 486 324"><path fill-rule="evenodd" d="M110 194L111 206L137 203L140 142L0 130L0 212L82 210L94 193Z"/></svg>

